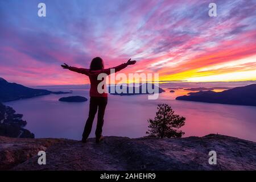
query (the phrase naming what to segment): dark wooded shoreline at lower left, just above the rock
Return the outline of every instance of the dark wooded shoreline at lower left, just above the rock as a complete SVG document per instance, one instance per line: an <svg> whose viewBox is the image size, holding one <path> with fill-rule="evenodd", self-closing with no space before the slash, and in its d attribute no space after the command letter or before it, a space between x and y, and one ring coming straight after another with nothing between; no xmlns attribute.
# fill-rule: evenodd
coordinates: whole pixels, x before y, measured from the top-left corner
<svg viewBox="0 0 256 182"><path fill-rule="evenodd" d="M22 120L22 114L16 114L16 111L0 102L0 136L14 138L34 138L35 135L30 131L23 129L27 121Z"/></svg>

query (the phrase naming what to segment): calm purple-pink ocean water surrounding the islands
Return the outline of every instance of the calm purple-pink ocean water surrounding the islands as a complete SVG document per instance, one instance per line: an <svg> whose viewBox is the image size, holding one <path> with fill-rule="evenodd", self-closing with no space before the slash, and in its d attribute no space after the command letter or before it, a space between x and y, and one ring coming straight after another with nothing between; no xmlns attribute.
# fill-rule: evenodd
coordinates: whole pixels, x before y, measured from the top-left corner
<svg viewBox="0 0 256 182"><path fill-rule="evenodd" d="M113 96L109 95L108 106L105 113L103 135L138 138L146 136L148 129L147 119L154 118L156 106L166 103L172 106L176 114L186 118L185 125L181 130L184 137L198 136L214 133L229 135L256 142L256 107L224 104L208 104L203 102L177 101L177 96L182 96L191 91L185 88L215 86L242 86L251 82L234 83L167 83L159 86L166 90L159 94L157 100L148 100L146 94L137 96ZM89 98L89 85L71 86L45 86L36 87L52 91L69 91L72 94L50 94L28 98L26 100L6 102L13 107L16 113L23 114L27 120L26 129L35 134L36 138L68 138L81 139L86 118L89 112L89 100L82 103L68 103L58 101L60 97L84 96ZM174 93L170 93L168 88ZM216 89L220 92L223 89ZM92 133L97 122L94 119Z"/></svg>

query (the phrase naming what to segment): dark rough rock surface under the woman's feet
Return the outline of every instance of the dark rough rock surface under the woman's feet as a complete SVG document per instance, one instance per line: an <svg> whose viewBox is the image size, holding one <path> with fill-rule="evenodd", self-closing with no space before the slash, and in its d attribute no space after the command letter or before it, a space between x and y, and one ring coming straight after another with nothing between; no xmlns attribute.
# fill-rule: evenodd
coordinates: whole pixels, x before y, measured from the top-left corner
<svg viewBox="0 0 256 182"><path fill-rule="evenodd" d="M39 165L38 151L46 151ZM217 165L208 163L217 152ZM105 137L68 139L0 137L0 169L11 170L255 170L256 143L224 135L172 139Z"/></svg>

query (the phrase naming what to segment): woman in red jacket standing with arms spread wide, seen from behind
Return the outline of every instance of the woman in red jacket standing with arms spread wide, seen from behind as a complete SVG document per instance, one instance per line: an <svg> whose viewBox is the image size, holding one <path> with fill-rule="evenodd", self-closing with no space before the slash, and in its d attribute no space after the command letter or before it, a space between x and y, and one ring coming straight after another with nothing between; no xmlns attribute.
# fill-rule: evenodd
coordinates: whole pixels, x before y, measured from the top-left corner
<svg viewBox="0 0 256 182"><path fill-rule="evenodd" d="M90 79L90 109L89 116L84 127L84 133L82 133L82 142L86 142L89 137L90 131L92 130L93 119L98 110L97 128L95 131L96 142L99 143L103 139L102 137L102 126L104 123L104 113L106 105L108 103L108 93L98 93L97 86L102 80L97 80L100 73L106 73L110 75L110 69L114 69L114 72L121 71L121 69L126 68L127 65L135 64L136 61L131 61L129 59L127 63L123 63L114 68L104 69L103 60L100 57L93 58L90 63L90 69L69 67L65 64L61 65L64 69L69 69L70 71L82 73L89 76ZM111 72L113 73L113 72Z"/></svg>

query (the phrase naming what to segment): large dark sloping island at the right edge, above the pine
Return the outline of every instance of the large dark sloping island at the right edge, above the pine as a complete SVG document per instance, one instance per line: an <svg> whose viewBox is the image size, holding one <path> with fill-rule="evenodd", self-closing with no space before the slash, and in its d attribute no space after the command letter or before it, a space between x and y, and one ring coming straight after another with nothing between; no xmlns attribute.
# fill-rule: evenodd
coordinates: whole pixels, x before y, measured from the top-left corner
<svg viewBox="0 0 256 182"><path fill-rule="evenodd" d="M218 104L256 106L256 84L240 86L222 92L200 91L179 96L176 100L208 102Z"/></svg>

